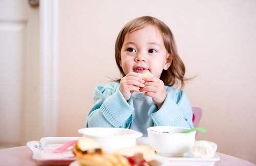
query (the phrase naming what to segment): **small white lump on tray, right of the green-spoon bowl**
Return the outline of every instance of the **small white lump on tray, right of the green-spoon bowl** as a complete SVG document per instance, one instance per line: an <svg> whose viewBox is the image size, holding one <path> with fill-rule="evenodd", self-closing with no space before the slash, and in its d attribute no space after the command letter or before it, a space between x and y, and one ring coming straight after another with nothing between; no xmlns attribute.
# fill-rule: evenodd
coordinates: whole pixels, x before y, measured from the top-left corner
<svg viewBox="0 0 256 166"><path fill-rule="evenodd" d="M206 140L196 141L190 153L196 158L213 158L217 151L217 144Z"/></svg>

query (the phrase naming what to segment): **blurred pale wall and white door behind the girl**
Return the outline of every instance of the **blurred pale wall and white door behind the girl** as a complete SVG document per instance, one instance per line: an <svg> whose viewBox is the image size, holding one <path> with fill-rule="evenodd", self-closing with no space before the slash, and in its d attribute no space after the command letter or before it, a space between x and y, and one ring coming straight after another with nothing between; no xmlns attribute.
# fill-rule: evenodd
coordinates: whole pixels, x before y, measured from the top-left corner
<svg viewBox="0 0 256 166"><path fill-rule="evenodd" d="M30 2L30 3L29 3ZM93 92L119 78L114 47L139 16L174 33L199 133L256 163L256 1L0 0L0 147L79 136Z"/></svg>

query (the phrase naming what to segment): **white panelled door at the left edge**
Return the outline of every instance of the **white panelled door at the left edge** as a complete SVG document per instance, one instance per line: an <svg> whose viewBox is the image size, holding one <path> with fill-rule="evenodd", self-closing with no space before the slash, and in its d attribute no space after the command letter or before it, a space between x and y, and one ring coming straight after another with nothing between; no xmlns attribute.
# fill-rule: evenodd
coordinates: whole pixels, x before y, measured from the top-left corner
<svg viewBox="0 0 256 166"><path fill-rule="evenodd" d="M1 0L0 146L38 139L39 107L39 8Z"/></svg>

